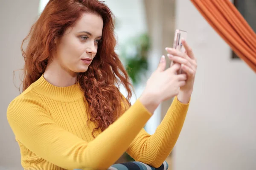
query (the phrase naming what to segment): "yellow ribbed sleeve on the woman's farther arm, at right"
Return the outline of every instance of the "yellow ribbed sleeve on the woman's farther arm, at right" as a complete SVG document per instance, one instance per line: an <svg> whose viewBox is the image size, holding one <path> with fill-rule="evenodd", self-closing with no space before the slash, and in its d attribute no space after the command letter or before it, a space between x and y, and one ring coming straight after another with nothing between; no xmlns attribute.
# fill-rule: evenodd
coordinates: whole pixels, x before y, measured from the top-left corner
<svg viewBox="0 0 256 170"><path fill-rule="evenodd" d="M155 133L149 135L142 129L131 143L127 153L136 161L160 167L175 146L188 108L189 103L179 102L176 96Z"/></svg>

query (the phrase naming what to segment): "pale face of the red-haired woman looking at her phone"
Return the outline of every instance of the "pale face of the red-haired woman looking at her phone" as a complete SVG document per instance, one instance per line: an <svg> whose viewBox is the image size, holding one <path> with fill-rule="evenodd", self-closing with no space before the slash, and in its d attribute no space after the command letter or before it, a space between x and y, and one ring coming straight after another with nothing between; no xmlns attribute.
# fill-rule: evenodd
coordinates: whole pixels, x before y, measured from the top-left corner
<svg viewBox="0 0 256 170"><path fill-rule="evenodd" d="M87 71L97 53L102 29L102 17L84 13L75 26L67 28L63 36L55 41L55 63L70 73Z"/></svg>

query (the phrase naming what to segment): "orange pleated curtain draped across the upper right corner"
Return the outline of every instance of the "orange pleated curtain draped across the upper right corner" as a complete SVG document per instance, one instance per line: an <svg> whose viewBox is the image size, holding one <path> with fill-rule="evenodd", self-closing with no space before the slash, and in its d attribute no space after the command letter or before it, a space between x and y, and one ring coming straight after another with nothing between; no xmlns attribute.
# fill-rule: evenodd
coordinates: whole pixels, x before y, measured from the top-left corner
<svg viewBox="0 0 256 170"><path fill-rule="evenodd" d="M194 6L256 72L256 34L230 0L191 0Z"/></svg>

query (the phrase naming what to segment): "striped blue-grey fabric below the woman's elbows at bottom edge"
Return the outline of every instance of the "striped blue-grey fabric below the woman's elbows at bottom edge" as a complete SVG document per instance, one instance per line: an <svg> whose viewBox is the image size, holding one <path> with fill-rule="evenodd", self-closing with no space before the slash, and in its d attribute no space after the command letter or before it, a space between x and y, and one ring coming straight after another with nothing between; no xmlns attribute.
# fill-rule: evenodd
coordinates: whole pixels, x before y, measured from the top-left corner
<svg viewBox="0 0 256 170"><path fill-rule="evenodd" d="M126 162L122 164L113 164L108 170L168 170L169 165L166 161L158 167L154 168L138 161Z"/></svg>

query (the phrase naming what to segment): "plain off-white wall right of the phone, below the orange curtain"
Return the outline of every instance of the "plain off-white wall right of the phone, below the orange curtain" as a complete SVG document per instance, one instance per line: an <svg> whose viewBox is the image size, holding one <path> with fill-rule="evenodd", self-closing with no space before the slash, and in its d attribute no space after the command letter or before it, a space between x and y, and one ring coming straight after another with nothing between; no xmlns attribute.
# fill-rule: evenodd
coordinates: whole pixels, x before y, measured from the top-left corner
<svg viewBox="0 0 256 170"><path fill-rule="evenodd" d="M230 59L229 46L189 0L176 2L177 28L188 31L198 71L174 170L256 169L256 74Z"/></svg>

